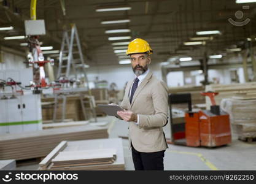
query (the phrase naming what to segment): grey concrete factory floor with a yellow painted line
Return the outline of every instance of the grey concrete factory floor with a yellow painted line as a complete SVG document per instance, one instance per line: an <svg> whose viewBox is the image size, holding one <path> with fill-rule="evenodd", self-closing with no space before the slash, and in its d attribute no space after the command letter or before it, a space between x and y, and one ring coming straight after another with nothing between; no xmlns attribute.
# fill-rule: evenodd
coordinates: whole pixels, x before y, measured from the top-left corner
<svg viewBox="0 0 256 184"><path fill-rule="evenodd" d="M101 117L98 121L109 121L109 137L127 136L128 123L113 117ZM170 137L170 125L165 128ZM165 170L255 170L256 142L248 144L232 137L232 143L218 148L193 148L169 145L165 151ZM123 139L126 170L134 170L128 139ZM17 167L17 170L36 170L38 164Z"/></svg>

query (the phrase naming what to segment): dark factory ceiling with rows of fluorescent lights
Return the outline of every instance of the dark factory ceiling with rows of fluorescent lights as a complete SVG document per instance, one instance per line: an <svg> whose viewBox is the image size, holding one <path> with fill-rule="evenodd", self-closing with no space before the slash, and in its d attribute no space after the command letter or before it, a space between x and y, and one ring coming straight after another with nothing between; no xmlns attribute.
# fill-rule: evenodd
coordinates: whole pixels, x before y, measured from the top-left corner
<svg viewBox="0 0 256 184"><path fill-rule="evenodd" d="M64 9L61 7L64 2ZM7 4L6 4L7 3ZM14 26L0 31L0 44L25 50L25 40L4 40L6 36L24 35L24 20L30 19L30 1L0 0L0 27ZM129 10L100 12L107 7L130 7ZM237 4L236 0L38 0L37 19L45 20L47 35L42 36L43 46L52 45L60 50L63 28L75 23L86 63L118 64L113 47L125 49L128 42L140 37L153 49L153 61L163 62L173 56L202 58L205 55L227 53L227 48L244 49L247 38L254 40L256 33L255 3ZM128 20L126 23L102 24L102 21ZM126 33L105 33L107 30L128 29ZM198 35L198 31L219 31L218 34ZM127 30L126 30L127 31ZM109 40L114 36L130 36L125 40ZM195 40L204 37L206 40ZM202 39L202 38L200 38ZM199 41L203 45L184 45Z"/></svg>

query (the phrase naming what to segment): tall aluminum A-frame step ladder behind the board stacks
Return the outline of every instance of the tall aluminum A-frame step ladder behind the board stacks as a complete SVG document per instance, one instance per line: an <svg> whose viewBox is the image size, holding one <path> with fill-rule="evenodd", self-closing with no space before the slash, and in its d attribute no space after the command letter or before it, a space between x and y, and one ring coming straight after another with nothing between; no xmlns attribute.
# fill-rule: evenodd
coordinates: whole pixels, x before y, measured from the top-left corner
<svg viewBox="0 0 256 184"><path fill-rule="evenodd" d="M70 33L70 36L69 36ZM68 55L68 57L66 56ZM83 77L84 84L85 84L85 90L88 91L89 96L91 96L91 91L88 85L88 79L86 74L86 68L88 67L87 64L85 64L85 61L83 59L83 53L82 48L80 45L79 35L77 32L77 28L75 24L71 25L71 30L65 29L63 31L63 39L61 43L61 50L60 50L60 59L59 59L59 67L58 67L58 73L57 73L57 79L60 79L60 77L64 77L66 79L75 78L78 79L78 77ZM74 74L74 77L71 77L71 69ZM80 76L79 76L80 74ZM71 92L72 91L72 92ZM83 91L84 92L84 91ZM87 115L85 112L85 105L83 98L85 97L85 94L79 91L77 92L79 94L80 103L82 106L82 112L83 117L86 119ZM76 93L76 90L69 90L69 93ZM64 121L66 115L66 96L69 94L67 93L55 93L55 105L54 105L54 111L53 111L53 122L56 121L56 113L57 113L57 107L58 107L58 99L63 99L62 101L62 109L61 109L61 121ZM90 110L93 115L93 118L95 118L95 122L97 122L96 118L96 112L95 112L95 102L94 98L88 98L89 104L90 104ZM90 119L90 118L89 118Z"/></svg>

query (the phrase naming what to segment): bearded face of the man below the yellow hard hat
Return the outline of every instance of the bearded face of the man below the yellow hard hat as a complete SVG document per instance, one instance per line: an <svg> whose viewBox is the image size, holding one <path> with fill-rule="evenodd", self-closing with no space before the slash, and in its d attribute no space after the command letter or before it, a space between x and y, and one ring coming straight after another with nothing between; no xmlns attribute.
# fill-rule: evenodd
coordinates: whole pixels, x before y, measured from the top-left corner
<svg viewBox="0 0 256 184"><path fill-rule="evenodd" d="M149 55L145 53L138 53L130 56L131 67L136 76L144 74L145 71L149 68L147 65L151 62Z"/></svg>

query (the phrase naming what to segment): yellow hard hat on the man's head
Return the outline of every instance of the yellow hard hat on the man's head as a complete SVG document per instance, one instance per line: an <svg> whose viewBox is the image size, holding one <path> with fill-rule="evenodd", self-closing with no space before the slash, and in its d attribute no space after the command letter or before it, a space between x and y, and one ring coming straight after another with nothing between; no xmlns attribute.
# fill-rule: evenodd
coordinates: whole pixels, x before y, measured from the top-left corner
<svg viewBox="0 0 256 184"><path fill-rule="evenodd" d="M152 54L153 50L150 48L149 43L143 39L136 38L130 42L128 49L126 50L126 55L131 55L133 53L149 53Z"/></svg>

